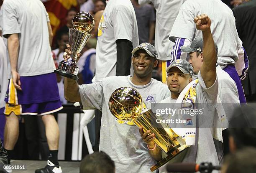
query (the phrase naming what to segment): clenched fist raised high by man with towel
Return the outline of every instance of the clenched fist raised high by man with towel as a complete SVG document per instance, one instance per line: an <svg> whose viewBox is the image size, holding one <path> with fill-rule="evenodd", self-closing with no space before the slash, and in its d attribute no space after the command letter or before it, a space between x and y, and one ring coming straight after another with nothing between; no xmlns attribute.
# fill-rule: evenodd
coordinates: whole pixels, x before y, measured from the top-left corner
<svg viewBox="0 0 256 173"><path fill-rule="evenodd" d="M211 27L211 20L206 14L198 15L194 18L194 22L197 29L201 31L209 30Z"/></svg>

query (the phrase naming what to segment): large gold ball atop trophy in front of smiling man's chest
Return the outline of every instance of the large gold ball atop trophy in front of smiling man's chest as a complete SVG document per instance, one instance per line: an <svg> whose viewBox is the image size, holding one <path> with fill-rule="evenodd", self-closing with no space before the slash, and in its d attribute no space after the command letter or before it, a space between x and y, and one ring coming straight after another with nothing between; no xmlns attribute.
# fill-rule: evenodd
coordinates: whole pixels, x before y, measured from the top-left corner
<svg viewBox="0 0 256 173"><path fill-rule="evenodd" d="M111 94L108 107L119 120L134 120L141 114L143 102L136 89L121 87Z"/></svg>

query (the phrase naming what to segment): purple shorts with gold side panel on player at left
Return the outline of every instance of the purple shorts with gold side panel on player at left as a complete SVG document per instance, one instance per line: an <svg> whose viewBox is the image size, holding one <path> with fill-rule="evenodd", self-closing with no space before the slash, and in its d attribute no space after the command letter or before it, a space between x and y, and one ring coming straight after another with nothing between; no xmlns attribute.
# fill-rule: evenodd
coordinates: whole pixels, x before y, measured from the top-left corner
<svg viewBox="0 0 256 173"><path fill-rule="evenodd" d="M38 76L21 76L21 89L16 90L10 79L5 97L4 114L45 115L62 109L54 73Z"/></svg>

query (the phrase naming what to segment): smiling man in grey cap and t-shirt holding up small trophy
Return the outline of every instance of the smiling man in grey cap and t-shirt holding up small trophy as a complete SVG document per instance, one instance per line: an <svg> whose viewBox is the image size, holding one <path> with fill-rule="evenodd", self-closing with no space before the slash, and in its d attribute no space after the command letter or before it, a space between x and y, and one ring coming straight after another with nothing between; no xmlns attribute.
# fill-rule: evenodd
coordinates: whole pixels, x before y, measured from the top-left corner
<svg viewBox="0 0 256 173"><path fill-rule="evenodd" d="M71 53L68 50L67 53ZM102 111L100 129L100 150L107 153L115 162L116 172L150 172L156 163L148 154L146 143L142 142L138 127L132 122L117 120L108 108L111 94L118 88L128 86L136 89L150 108L152 102L160 102L170 96L165 84L152 79L156 67L157 53L150 43L141 43L132 51L133 76L111 76L93 84L79 86L77 81L65 78L65 98L71 102L80 102L85 109ZM69 56L66 55L64 59Z"/></svg>

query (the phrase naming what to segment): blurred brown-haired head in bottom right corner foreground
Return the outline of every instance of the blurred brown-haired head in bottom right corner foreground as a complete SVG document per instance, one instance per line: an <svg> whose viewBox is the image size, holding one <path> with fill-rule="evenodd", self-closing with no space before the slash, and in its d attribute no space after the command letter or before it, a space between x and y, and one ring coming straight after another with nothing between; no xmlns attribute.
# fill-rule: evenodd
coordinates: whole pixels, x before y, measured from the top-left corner
<svg viewBox="0 0 256 173"><path fill-rule="evenodd" d="M225 157L221 173L255 173L256 148L244 148Z"/></svg>

